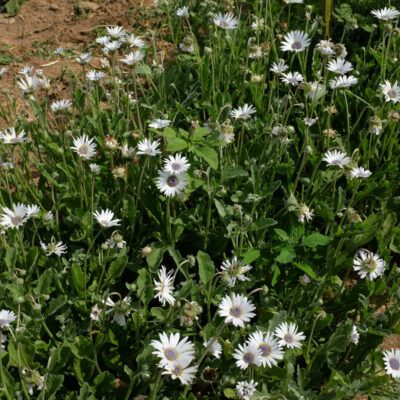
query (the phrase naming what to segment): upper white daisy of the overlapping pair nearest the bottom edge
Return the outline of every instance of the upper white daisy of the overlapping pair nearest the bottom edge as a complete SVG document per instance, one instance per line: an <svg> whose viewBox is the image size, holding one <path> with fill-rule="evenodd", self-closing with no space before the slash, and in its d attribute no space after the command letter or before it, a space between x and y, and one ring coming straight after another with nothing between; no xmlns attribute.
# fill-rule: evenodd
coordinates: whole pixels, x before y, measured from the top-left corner
<svg viewBox="0 0 400 400"><path fill-rule="evenodd" d="M171 366L175 363L189 365L194 359L195 348L187 337L180 340L180 334L163 332L159 334L160 340L152 340L151 345L156 351L153 354L160 358L161 368Z"/></svg>

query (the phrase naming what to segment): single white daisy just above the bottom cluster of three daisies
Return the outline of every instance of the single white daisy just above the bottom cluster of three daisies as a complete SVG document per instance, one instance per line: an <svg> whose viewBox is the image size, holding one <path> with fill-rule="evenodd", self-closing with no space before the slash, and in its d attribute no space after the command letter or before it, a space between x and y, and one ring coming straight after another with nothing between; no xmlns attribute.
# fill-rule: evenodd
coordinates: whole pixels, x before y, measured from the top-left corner
<svg viewBox="0 0 400 400"><path fill-rule="evenodd" d="M256 314L253 313L256 308L246 296L232 293L226 295L218 306L218 314L226 317L226 323L232 323L234 326L244 328L245 322L249 322Z"/></svg>

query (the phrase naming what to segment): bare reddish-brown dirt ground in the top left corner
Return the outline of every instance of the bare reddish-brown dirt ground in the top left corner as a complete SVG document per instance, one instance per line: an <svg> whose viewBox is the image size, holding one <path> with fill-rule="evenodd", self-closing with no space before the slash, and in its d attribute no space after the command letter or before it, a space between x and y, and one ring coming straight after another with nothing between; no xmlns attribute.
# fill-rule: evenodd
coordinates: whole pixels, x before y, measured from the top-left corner
<svg viewBox="0 0 400 400"><path fill-rule="evenodd" d="M94 40L97 27L120 25L137 34L158 23L157 18L146 18L139 11L154 10L152 0L92 0L99 8L88 13L79 12L77 3L76 0L28 0L15 17L0 14L0 49L6 49L5 53L16 59L6 65L8 70L1 79L1 89L8 89L11 97L20 97L15 78L24 65L41 68L47 78L53 79L60 76L66 65L72 70L81 70L76 61L51 54L57 47L79 54ZM158 50L170 52L167 43L160 39L156 42ZM91 65L98 67L99 57L94 57ZM70 98L67 93L67 82L57 80L52 84L51 97ZM4 95L0 95L0 102L4 104ZM18 106L22 105L19 100ZM4 121L0 121L0 128L3 125Z"/></svg>

